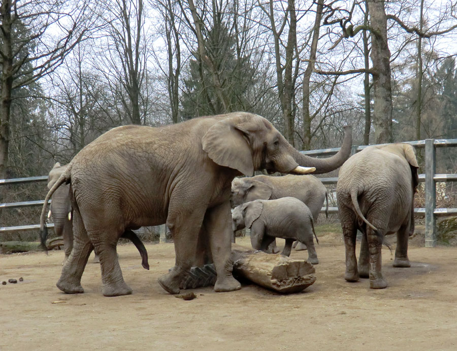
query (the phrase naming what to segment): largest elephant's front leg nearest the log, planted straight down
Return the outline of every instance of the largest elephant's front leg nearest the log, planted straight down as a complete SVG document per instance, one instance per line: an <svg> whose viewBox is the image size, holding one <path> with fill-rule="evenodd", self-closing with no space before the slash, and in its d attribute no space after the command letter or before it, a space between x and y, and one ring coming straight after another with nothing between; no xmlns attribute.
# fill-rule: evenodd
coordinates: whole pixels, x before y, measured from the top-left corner
<svg viewBox="0 0 457 351"><path fill-rule="evenodd" d="M241 284L232 275L230 202L227 201L211 208L205 221L209 234L211 255L217 273L214 291L223 292L241 289Z"/></svg>

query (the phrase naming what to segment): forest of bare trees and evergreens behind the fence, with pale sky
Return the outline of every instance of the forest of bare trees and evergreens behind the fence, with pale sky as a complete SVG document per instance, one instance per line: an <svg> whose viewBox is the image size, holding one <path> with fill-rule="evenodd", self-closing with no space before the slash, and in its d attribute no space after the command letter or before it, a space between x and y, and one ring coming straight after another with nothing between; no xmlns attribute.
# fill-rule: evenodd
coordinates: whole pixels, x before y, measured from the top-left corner
<svg viewBox="0 0 457 351"><path fill-rule="evenodd" d="M346 124L354 145L456 138L456 55L455 0L2 0L0 179L45 175L115 126L234 111L300 150L339 146Z"/></svg>

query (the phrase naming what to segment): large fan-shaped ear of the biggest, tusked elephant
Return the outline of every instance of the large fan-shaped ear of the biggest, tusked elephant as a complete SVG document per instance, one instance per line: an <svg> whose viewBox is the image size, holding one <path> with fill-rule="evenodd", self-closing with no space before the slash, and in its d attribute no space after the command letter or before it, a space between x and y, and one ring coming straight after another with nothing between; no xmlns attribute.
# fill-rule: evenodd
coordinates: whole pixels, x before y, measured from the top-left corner
<svg viewBox="0 0 457 351"><path fill-rule="evenodd" d="M249 118L251 117L251 118ZM203 136L203 150L215 163L239 170L251 176L254 173L249 130L255 128L254 115L236 115L215 123ZM252 120L252 121L250 121Z"/></svg>

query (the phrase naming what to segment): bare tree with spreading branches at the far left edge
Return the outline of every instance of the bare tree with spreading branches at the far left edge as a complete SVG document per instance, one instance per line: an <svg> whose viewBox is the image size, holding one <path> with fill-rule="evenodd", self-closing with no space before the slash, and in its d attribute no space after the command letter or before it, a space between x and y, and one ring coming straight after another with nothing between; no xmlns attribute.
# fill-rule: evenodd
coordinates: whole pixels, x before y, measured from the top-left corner
<svg viewBox="0 0 457 351"><path fill-rule="evenodd" d="M94 29L96 2L2 0L0 5L0 179L8 166L13 92L56 69ZM56 30L57 29L57 30ZM52 36L50 32L58 32Z"/></svg>

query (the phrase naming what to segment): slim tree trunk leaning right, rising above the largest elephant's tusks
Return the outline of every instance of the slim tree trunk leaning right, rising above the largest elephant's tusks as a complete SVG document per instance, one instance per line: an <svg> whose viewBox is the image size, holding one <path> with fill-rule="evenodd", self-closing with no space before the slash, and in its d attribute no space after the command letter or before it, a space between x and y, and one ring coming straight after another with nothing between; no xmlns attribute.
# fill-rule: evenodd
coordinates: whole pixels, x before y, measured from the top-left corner
<svg viewBox="0 0 457 351"><path fill-rule="evenodd" d="M323 0L317 1L316 18L314 20L313 39L309 53L309 62L303 74L303 150L311 149L311 114L309 112L309 82L316 61L317 42L319 40L320 20L322 18Z"/></svg>

